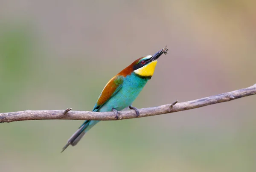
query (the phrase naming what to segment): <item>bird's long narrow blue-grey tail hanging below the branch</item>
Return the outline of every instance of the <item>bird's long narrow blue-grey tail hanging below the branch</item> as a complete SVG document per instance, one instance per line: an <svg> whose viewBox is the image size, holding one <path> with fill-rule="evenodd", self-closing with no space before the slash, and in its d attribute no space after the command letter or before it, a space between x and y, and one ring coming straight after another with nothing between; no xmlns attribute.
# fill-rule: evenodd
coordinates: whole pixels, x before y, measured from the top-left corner
<svg viewBox="0 0 256 172"><path fill-rule="evenodd" d="M79 129L70 137L70 139L68 139L67 144L62 148L61 152L63 152L69 145L75 146L84 136L84 134L98 122L99 121L84 121L84 123L79 127Z"/></svg>

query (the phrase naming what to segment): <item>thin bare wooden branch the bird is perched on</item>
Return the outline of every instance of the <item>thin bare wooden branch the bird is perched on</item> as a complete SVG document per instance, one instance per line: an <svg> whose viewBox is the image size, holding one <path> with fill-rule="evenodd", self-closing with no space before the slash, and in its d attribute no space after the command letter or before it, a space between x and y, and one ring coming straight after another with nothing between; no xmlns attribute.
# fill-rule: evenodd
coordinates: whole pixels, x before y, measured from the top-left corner
<svg viewBox="0 0 256 172"><path fill-rule="evenodd" d="M148 107L139 109L140 116L154 116L165 113L173 113L182 110L195 109L198 107L208 106L221 102L228 102L241 97L256 94L256 84L240 90L209 96L202 99L192 100L188 102L165 104L158 107ZM177 104L176 104L177 103ZM0 122L25 121L25 120L41 120L41 119L75 119L75 120L116 120L113 112L90 112L90 111L70 111L66 110L26 110L20 112L0 113ZM121 111L118 120L136 118L134 110Z"/></svg>

